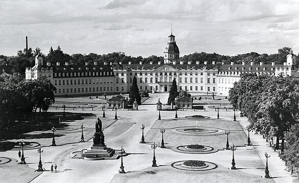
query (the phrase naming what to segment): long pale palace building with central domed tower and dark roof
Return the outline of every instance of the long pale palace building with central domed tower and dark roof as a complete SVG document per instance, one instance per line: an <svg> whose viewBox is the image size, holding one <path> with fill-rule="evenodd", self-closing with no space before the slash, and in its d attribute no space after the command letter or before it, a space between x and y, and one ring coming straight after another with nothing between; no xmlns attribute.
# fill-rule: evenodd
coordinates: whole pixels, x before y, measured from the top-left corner
<svg viewBox="0 0 299 183"><path fill-rule="evenodd" d="M215 93L229 95L230 88L240 79L242 73L267 74L269 76L299 76L295 68L295 55L287 55L283 65L231 63L223 64L212 61L184 63L179 60L180 51L175 36L168 36L164 49L164 62L154 64L128 64L104 62L102 65L69 65L57 62L56 65L43 63L43 57L37 55L35 66L26 68L26 79L37 79L46 76L57 88L55 96L101 95L128 93L137 79L139 90L150 92L169 92L173 79L176 79L178 89L189 90L192 93ZM59 61L59 60L58 60Z"/></svg>

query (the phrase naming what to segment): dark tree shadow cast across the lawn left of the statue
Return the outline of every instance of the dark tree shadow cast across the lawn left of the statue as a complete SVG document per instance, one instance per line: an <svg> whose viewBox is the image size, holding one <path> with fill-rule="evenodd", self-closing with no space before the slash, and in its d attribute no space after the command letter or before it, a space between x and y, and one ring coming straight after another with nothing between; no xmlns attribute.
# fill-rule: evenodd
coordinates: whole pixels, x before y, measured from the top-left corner
<svg viewBox="0 0 299 183"><path fill-rule="evenodd" d="M72 112L46 112L46 113L36 113L33 114L28 120L16 121L14 126L7 129L0 129L0 140L11 140L16 138L26 138L23 134L30 133L34 131L47 131L51 130L52 127L61 128L60 130L67 130L69 127L67 123L72 123L73 121L83 120L85 117L95 117L92 113L72 113ZM59 123L60 118L60 123ZM64 122L64 123L63 123ZM49 133L52 134L52 133ZM37 134L40 135L40 134ZM30 138L36 135L25 135ZM42 137L40 138L49 138Z"/></svg>

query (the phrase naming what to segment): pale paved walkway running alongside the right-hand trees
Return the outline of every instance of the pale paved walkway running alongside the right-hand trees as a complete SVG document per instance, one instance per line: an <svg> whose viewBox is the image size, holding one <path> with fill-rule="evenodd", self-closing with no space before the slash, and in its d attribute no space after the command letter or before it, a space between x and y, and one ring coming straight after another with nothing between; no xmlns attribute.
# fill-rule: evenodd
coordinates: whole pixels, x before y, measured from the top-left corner
<svg viewBox="0 0 299 183"><path fill-rule="evenodd" d="M240 125L244 129L244 132L248 135L248 131L245 130L246 126L249 125L249 121L246 117L237 117L237 120L239 121ZM273 177L273 179L277 183L287 183L287 182L293 182L294 177L291 176L291 173L286 170L285 162L282 161L278 157L278 151L274 151L272 147L270 147L269 143L266 142L265 139L263 139L263 135L256 134L255 132L250 132L250 139L251 143L253 144L253 147L257 151L258 155L260 156L261 160L266 166L266 157L265 153L270 155L270 158L268 158L268 168L269 168L269 174L270 177ZM265 175L263 175L264 177Z"/></svg>

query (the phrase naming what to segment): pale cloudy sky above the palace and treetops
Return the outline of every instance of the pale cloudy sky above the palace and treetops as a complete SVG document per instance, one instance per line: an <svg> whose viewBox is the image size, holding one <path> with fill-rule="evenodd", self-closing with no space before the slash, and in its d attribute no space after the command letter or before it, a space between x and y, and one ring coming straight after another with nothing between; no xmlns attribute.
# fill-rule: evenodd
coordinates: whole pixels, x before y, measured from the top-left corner
<svg viewBox="0 0 299 183"><path fill-rule="evenodd" d="M163 56L176 36L180 56L299 52L298 0L0 0L0 55L26 47L47 54L124 52Z"/></svg>

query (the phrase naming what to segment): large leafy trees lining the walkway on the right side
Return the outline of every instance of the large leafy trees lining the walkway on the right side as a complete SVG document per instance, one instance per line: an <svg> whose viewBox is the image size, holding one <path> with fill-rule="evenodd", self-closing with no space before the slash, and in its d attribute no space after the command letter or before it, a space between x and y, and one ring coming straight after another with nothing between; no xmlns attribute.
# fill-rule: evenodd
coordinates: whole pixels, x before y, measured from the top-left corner
<svg viewBox="0 0 299 183"><path fill-rule="evenodd" d="M229 95L234 109L248 117L248 130L276 136L277 149L281 139L288 166L299 168L298 78L243 74Z"/></svg>

